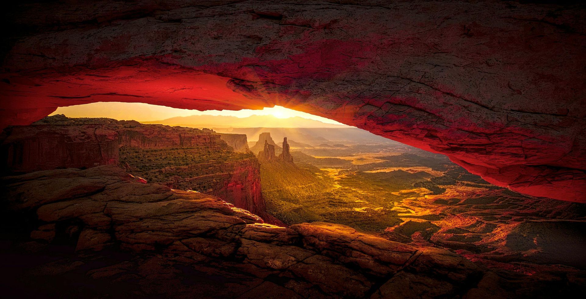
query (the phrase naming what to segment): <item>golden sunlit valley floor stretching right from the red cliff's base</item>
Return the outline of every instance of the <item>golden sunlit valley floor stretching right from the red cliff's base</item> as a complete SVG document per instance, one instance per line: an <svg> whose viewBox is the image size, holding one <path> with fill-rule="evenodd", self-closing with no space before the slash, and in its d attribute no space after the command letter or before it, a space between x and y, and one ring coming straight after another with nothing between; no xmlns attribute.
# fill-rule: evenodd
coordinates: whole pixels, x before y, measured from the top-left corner
<svg viewBox="0 0 586 299"><path fill-rule="evenodd" d="M287 224L349 225L519 273L586 268L586 205L515 193L391 144L301 150L297 167L261 164L267 210Z"/></svg>

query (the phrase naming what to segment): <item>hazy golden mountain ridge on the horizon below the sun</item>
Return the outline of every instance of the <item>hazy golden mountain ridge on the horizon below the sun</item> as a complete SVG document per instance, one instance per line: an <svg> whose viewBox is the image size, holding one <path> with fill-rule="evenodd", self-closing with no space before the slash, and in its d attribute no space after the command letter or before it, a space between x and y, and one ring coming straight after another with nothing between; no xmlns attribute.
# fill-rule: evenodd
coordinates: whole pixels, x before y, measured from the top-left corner
<svg viewBox="0 0 586 299"><path fill-rule="evenodd" d="M147 121L142 123L160 123L168 126L186 126L190 128L352 128L346 125L336 125L315 121L314 119L295 116L291 118L277 118L272 115L251 115L246 118L236 116L192 115L176 116L161 121Z"/></svg>

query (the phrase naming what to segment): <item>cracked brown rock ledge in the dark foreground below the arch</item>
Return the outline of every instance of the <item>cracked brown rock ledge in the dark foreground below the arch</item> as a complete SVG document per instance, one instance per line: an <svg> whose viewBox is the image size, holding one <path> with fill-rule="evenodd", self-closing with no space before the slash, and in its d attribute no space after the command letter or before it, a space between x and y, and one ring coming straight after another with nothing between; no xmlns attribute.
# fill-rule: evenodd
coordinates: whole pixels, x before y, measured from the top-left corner
<svg viewBox="0 0 586 299"><path fill-rule="evenodd" d="M71 279L84 297L524 298L584 288L583 271L497 274L448 250L343 225L263 224L219 198L141 183L116 166L39 171L1 185L2 221L36 224L20 226L26 235L11 262L37 266L6 277L7 292L69 294ZM69 243L78 255L63 251ZM38 258L52 245L60 257Z"/></svg>

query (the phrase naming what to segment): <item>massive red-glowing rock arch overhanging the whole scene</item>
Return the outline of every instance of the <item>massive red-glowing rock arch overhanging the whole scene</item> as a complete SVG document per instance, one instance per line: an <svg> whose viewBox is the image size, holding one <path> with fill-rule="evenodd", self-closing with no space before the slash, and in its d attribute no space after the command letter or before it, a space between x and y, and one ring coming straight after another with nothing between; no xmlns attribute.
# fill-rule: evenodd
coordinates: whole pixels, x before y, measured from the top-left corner
<svg viewBox="0 0 586 299"><path fill-rule="evenodd" d="M1 125L97 101L277 104L586 202L583 6L350 2L18 6Z"/></svg>

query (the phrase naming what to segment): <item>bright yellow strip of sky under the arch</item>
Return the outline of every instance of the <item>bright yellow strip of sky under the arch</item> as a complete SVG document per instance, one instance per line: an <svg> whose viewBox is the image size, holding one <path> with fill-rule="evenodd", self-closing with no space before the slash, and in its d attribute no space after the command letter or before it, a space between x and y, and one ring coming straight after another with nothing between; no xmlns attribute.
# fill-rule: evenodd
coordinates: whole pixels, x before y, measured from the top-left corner
<svg viewBox="0 0 586 299"><path fill-rule="evenodd" d="M291 118L300 116L302 118L314 119L325 123L335 123L343 125L342 123L332 121L331 119L323 118L308 114L305 112L295 111L281 106L274 106L273 108L264 108L263 110L243 109L239 111L231 110L206 110L197 111L190 109L177 109L167 106L158 106L144 103L126 103L126 102L96 102L83 105L74 105L67 107L59 107L50 115L64 114L71 118L79 117L104 117L118 119L119 121L134 119L138 122L147 121L161 121L163 119L172 118L175 116L191 116L191 115L224 115L236 116L239 118L246 118L251 115L272 115L277 118Z"/></svg>

